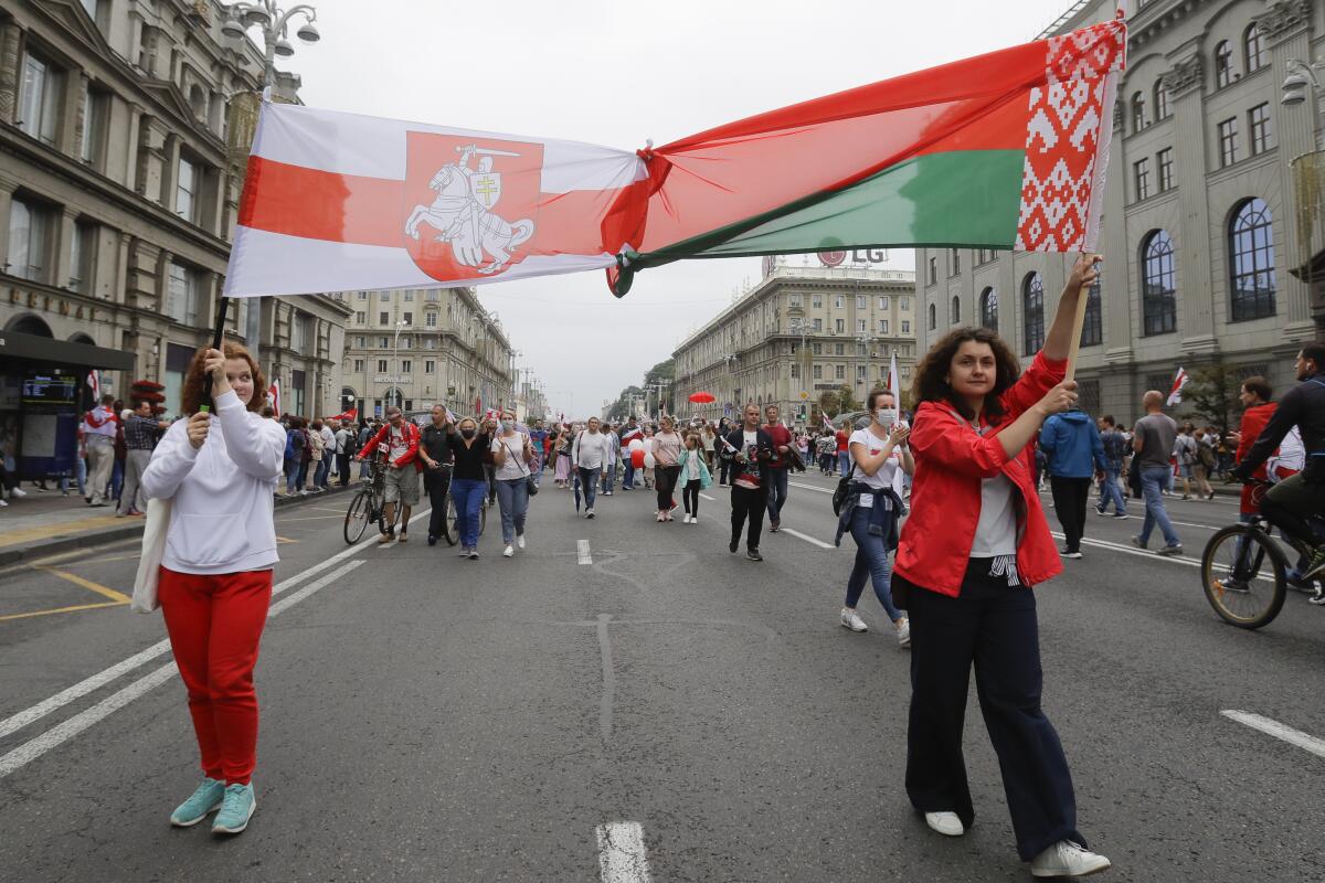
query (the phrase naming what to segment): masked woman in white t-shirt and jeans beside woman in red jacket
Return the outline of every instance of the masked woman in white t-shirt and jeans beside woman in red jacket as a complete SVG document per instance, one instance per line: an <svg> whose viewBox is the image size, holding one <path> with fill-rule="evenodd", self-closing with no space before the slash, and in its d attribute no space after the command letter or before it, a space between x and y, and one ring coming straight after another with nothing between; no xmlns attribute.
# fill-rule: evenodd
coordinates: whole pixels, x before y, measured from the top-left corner
<svg viewBox="0 0 1325 883"><path fill-rule="evenodd" d="M901 494L894 483L898 470L910 475L916 462L906 447L910 429L901 422L893 393L876 389L869 393L869 425L851 434L847 449L856 466L851 491L843 506L841 527L849 527L856 540L856 563L847 579L847 602L841 608L841 624L852 631L868 631L865 621L856 613L856 604L865 590L865 580L874 585L874 597L884 606L897 630L901 646L910 643L906 617L893 604L892 569L888 552L897 548ZM841 539L841 527L837 537Z"/></svg>

